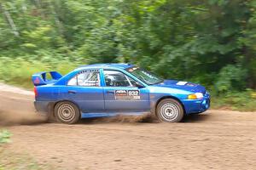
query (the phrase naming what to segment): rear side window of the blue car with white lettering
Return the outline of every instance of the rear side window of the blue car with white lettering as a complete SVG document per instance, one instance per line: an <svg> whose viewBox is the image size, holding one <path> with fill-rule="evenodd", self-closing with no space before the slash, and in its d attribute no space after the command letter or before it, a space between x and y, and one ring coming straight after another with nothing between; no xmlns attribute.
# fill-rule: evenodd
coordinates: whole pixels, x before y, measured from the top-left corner
<svg viewBox="0 0 256 170"><path fill-rule="evenodd" d="M100 86L100 73L98 71L80 71L67 82L67 86Z"/></svg>

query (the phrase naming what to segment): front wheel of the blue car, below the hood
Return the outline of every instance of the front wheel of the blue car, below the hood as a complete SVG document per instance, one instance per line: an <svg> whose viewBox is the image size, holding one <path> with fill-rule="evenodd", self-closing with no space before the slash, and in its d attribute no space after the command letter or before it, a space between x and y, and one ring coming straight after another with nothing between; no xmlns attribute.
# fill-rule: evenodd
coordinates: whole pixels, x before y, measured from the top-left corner
<svg viewBox="0 0 256 170"><path fill-rule="evenodd" d="M162 99L156 107L156 116L160 122L181 122L183 106L176 99Z"/></svg>

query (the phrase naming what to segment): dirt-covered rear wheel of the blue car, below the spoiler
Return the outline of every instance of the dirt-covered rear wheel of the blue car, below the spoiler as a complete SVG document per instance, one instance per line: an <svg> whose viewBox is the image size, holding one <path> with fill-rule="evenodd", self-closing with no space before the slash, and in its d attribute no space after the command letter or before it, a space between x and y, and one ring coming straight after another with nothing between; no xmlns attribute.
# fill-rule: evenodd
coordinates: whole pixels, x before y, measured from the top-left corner
<svg viewBox="0 0 256 170"><path fill-rule="evenodd" d="M57 122L74 124L79 122L80 111L72 102L63 101L55 105L55 120Z"/></svg>

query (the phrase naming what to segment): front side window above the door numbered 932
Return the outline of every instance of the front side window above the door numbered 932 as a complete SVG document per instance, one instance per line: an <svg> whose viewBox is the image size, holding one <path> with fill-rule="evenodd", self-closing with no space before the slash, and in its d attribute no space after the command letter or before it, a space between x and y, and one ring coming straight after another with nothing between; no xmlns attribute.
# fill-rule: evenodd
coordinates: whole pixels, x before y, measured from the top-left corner
<svg viewBox="0 0 256 170"><path fill-rule="evenodd" d="M136 87L136 82L120 71L104 71L104 79L108 87Z"/></svg>

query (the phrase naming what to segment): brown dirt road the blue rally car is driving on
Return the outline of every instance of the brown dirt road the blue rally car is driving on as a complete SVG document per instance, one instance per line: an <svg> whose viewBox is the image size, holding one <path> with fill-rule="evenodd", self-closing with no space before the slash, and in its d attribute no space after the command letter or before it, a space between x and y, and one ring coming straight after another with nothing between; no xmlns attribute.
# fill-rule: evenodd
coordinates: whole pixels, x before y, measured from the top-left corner
<svg viewBox="0 0 256 170"><path fill-rule="evenodd" d="M55 168L256 169L255 112L207 111L173 124L97 119L67 126L37 116L31 93L6 89L0 85L0 123L13 125L4 128L14 134L7 149Z"/></svg>

